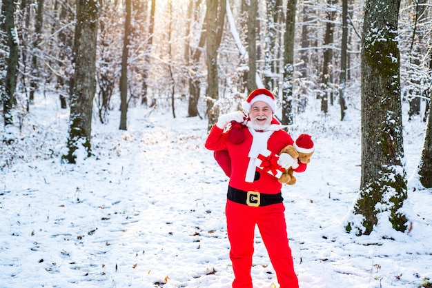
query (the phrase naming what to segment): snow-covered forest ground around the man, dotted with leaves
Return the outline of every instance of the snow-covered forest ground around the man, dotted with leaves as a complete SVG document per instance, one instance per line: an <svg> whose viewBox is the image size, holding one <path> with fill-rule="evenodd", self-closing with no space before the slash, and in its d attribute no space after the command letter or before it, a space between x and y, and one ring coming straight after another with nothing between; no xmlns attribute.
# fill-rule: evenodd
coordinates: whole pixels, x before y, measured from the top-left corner
<svg viewBox="0 0 432 288"><path fill-rule="evenodd" d="M350 108L351 120L340 122L339 107L322 116L313 101L290 132L312 134L315 154L282 190L300 287L428 282L432 190L410 178L425 124L404 121L413 229L380 225L357 237L343 220L360 185L360 112ZM107 125L93 121L95 156L69 165L60 157L68 110L58 102L39 95L17 141L1 143L0 287L230 287L228 178L204 148L207 120L179 107L175 119L163 108L132 108L125 132L113 110ZM256 288L276 282L258 232L252 274Z"/></svg>

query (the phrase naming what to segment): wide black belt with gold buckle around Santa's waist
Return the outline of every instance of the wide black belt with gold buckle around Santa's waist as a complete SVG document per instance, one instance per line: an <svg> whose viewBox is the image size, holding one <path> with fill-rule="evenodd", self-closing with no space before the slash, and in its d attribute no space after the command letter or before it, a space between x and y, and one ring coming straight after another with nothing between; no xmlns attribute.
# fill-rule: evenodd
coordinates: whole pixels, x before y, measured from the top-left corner
<svg viewBox="0 0 432 288"><path fill-rule="evenodd" d="M256 191L243 191L228 186L228 194L226 196L228 200L235 203L240 203L252 207L267 206L276 203L282 203L282 193L277 194L262 194Z"/></svg>

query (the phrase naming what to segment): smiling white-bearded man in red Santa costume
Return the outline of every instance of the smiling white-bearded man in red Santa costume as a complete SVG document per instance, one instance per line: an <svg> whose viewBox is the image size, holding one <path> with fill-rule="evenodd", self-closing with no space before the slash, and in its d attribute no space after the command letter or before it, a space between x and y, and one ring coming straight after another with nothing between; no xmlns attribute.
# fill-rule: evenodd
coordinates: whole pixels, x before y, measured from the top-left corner
<svg viewBox="0 0 432 288"><path fill-rule="evenodd" d="M240 111L219 116L206 141L208 150L227 151L229 156L225 163L230 164L230 169L224 170L230 176L226 222L235 275L233 288L253 287L251 267L255 225L280 287L295 288L298 280L288 245L282 184L277 176L288 167L297 167L295 172L303 172L306 164L299 163L289 154L277 155L294 141L273 117L276 105L270 91L254 90L243 106L249 111L250 121L241 127L242 141L229 141L230 132L224 132L231 121L244 123L244 113Z"/></svg>

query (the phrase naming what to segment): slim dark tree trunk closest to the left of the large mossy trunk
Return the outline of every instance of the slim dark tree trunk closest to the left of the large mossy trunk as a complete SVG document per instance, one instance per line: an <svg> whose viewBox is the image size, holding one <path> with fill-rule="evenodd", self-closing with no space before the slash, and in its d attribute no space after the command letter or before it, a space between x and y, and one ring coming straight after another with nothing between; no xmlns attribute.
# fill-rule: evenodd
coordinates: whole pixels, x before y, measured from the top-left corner
<svg viewBox="0 0 432 288"><path fill-rule="evenodd" d="M342 43L340 48L340 121L345 118L346 50L348 49L348 0L342 0Z"/></svg>

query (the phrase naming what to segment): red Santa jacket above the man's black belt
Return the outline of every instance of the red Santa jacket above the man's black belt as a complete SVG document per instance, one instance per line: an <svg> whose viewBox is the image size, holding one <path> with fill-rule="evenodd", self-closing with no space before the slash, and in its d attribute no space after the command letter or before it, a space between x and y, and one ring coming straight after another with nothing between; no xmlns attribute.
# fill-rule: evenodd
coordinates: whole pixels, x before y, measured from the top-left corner
<svg viewBox="0 0 432 288"><path fill-rule="evenodd" d="M208 134L205 147L212 151L228 151L231 165L230 174L228 176L230 176L229 185L231 187L244 191L258 191L265 194L279 193L282 184L277 181L275 176L263 172L259 168L255 168L255 173L259 175L255 177L255 181L252 183L245 181L246 170L249 163L248 153L252 145L253 136L246 126L242 127L242 133L244 134L244 141L242 143L231 143L228 141L227 133L224 133L224 130L213 125L210 134ZM293 145L293 143L293 138L291 138L287 132L284 130L277 130L268 138L267 149L275 154L279 154L282 148L286 147L286 145ZM226 165L228 164L226 163ZM294 171L304 172L305 169L306 164L299 162L299 167L294 169ZM224 170L229 171L229 169Z"/></svg>

